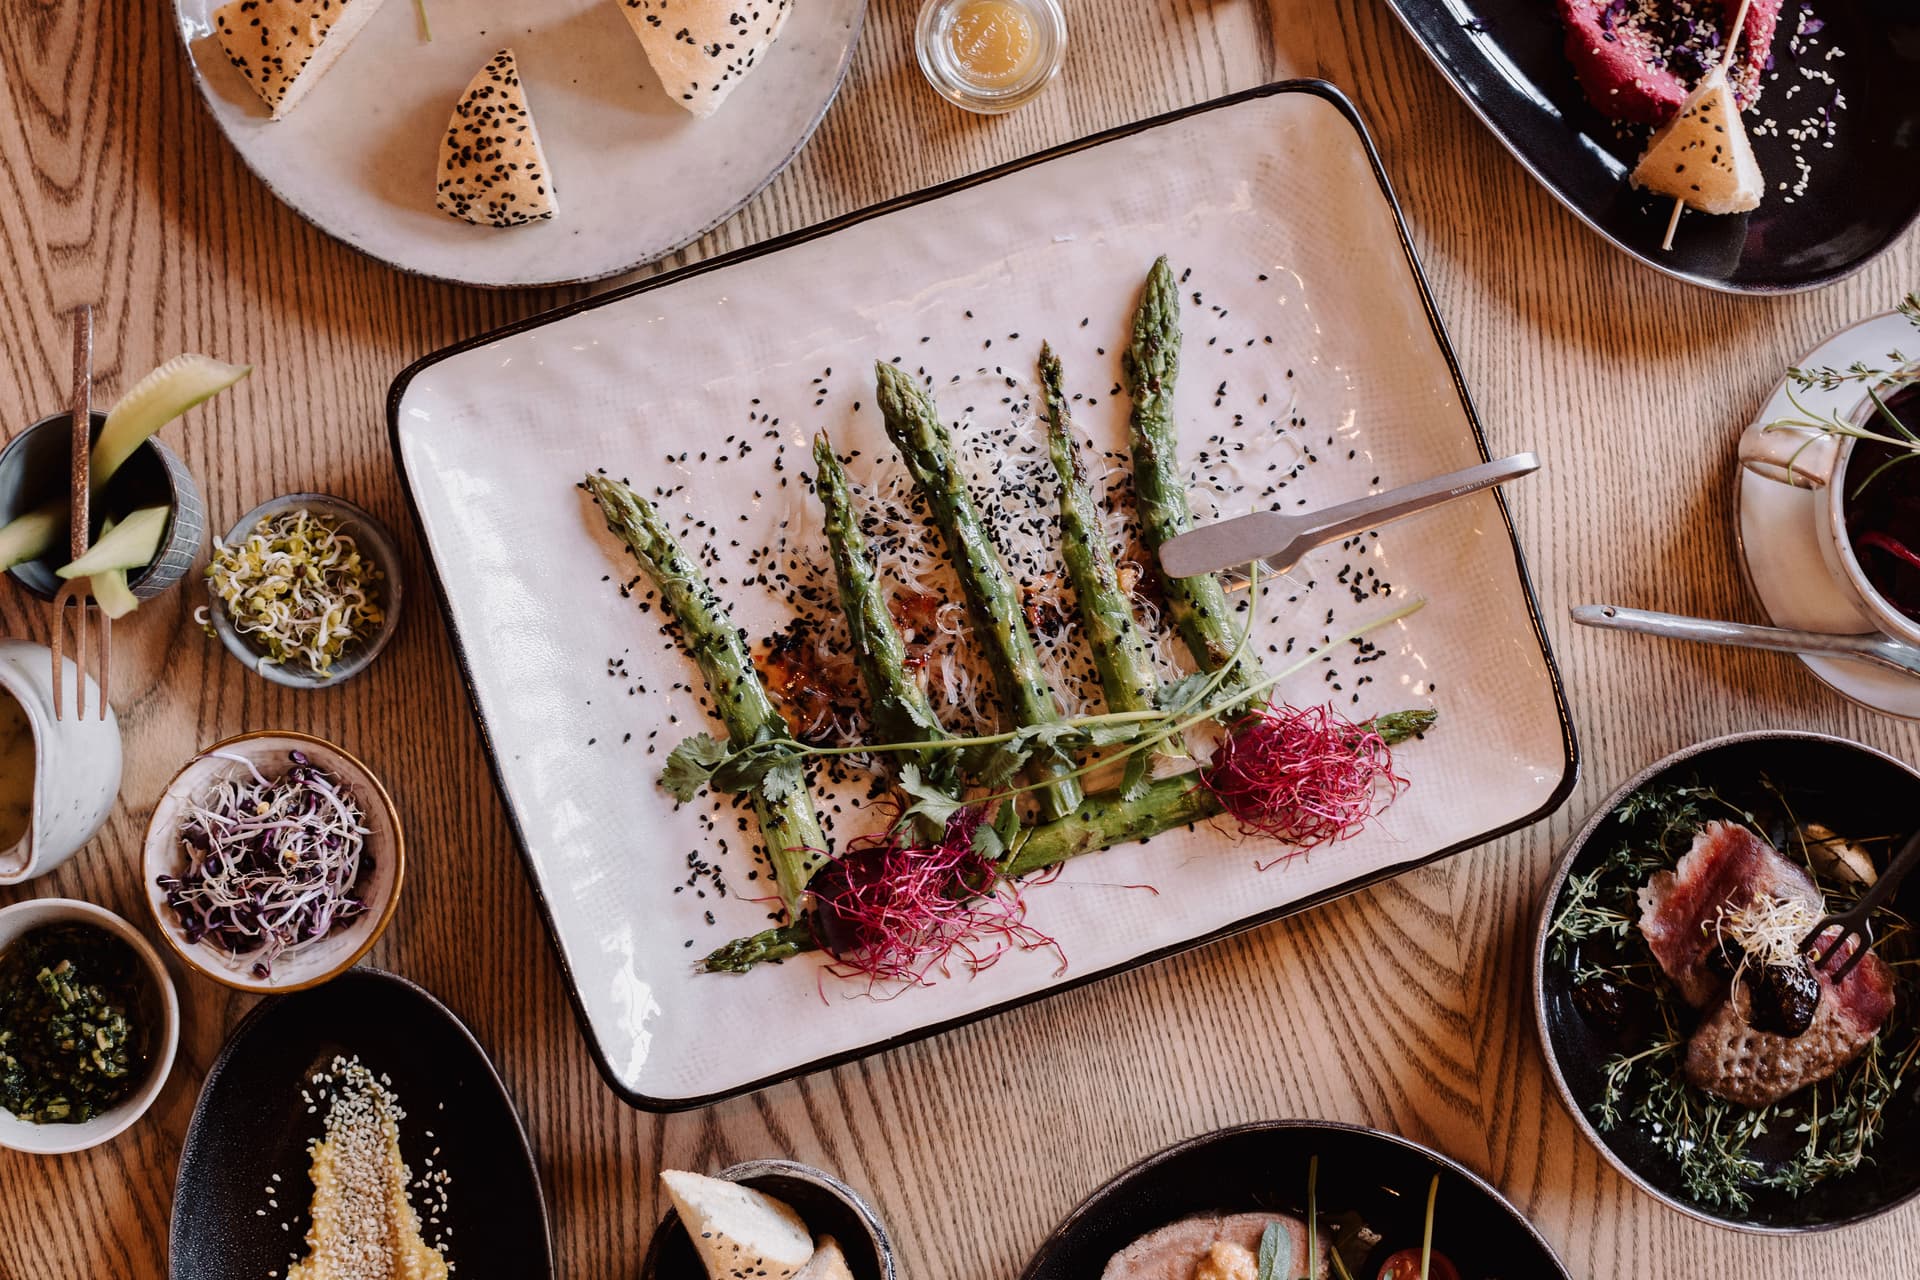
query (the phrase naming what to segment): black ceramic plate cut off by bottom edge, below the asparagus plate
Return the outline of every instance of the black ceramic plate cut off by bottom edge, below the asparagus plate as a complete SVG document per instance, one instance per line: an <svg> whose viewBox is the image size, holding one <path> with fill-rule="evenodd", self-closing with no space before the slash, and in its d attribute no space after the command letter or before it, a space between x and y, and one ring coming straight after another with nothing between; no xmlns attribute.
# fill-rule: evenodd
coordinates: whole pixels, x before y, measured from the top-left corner
<svg viewBox="0 0 1920 1280"><path fill-rule="evenodd" d="M1146 1232L1198 1213L1306 1217L1315 1155L1321 1217L1354 1211L1380 1234L1354 1270L1357 1280L1375 1280L1396 1249L1419 1247L1434 1174L1434 1249L1459 1267L1461 1280L1567 1280L1540 1232L1478 1176L1405 1138L1329 1121L1221 1128L1148 1155L1054 1228L1025 1280L1089 1280Z"/></svg>

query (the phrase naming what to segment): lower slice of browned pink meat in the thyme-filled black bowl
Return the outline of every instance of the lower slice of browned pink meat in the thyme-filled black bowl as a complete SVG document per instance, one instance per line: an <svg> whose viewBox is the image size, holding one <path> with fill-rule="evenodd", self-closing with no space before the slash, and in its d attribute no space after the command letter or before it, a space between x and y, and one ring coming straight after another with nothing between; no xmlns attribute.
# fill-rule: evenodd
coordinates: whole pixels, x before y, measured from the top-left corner
<svg viewBox="0 0 1920 1280"><path fill-rule="evenodd" d="M1820 1004L1805 1034L1755 1031L1747 988L1736 984L1688 1040L1686 1079L1745 1107L1766 1107L1851 1063L1893 1013L1893 971L1868 954L1837 986L1826 969L1814 973Z"/></svg>

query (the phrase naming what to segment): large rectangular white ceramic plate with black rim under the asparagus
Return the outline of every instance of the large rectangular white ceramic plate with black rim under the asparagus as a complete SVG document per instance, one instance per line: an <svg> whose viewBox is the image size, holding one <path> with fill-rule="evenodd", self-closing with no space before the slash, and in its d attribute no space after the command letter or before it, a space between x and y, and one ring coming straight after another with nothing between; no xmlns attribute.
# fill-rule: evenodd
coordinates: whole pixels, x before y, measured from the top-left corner
<svg viewBox="0 0 1920 1280"><path fill-rule="evenodd" d="M1269 871L1256 869L1267 850L1215 827L1083 858L1029 894L1066 971L1050 952L1016 954L893 1000L833 983L822 1000L812 958L745 977L693 971L707 948L764 925L766 906L674 892L691 850L722 860L739 889L749 850L735 837L718 852L703 808L676 810L653 785L666 745L708 727L689 695L666 693L697 674L662 643L657 612L614 593L632 560L576 482L605 466L649 493L682 486L676 528L701 516L722 530L722 595L766 635L789 606L774 587L739 585L745 549L781 520L801 535L818 528L797 478L816 430L860 451L856 478L887 449L866 372L876 357L973 388L985 367L996 390L995 365L1027 380L1052 338L1092 393L1081 428L1121 447L1125 407L1108 391L1156 253L1204 290L1187 307L1188 455L1217 432L1246 443L1242 470L1263 474L1309 449L1319 462L1284 491L1296 507L1484 457L1371 144L1321 84L1123 129L595 297L428 357L394 384L396 455L501 793L582 1025L636 1105L712 1102L1004 1009L1482 842L1565 798L1574 743L1557 674L1505 510L1480 495L1382 530L1373 547L1396 593L1428 604L1377 637L1388 656L1365 668L1375 679L1346 710L1430 702L1442 727L1400 752L1413 787L1359 839ZM1306 426L1288 430L1288 411ZM749 413L768 422L749 430ZM730 434L756 449L737 457ZM682 453L684 464L664 461ZM1340 564L1327 551L1296 572L1304 643L1327 631L1327 610L1340 628L1386 610L1356 604L1334 581ZM609 679L616 654L653 693L626 697ZM1308 670L1283 695L1319 700L1327 679ZM851 829L843 814L841 835Z"/></svg>

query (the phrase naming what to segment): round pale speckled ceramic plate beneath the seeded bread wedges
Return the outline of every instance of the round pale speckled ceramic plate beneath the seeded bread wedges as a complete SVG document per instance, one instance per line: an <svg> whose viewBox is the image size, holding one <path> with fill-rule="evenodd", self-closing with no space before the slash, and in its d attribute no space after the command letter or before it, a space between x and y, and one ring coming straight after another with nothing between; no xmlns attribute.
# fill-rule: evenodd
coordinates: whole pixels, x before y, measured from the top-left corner
<svg viewBox="0 0 1920 1280"><path fill-rule="evenodd" d="M614 0L382 0L282 121L213 38L221 0L175 0L194 81L240 157L315 226L403 271L459 284L597 280L712 230L799 155L839 92L866 0L795 10L708 119L680 109ZM470 226L434 207L440 134L480 65L513 48L561 211Z"/></svg>

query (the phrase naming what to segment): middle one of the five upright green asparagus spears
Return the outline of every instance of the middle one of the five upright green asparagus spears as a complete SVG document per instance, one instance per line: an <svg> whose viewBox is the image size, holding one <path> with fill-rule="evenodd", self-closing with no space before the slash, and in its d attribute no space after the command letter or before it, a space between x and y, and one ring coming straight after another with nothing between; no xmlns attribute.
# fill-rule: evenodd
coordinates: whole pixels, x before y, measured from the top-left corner
<svg viewBox="0 0 1920 1280"><path fill-rule="evenodd" d="M1016 725L1052 723L1060 720L1054 691L1041 670L1041 658L1027 631L1027 616L1020 591L1014 589L1000 562L1000 553L987 535L987 526L968 493L966 476L954 468L952 438L941 422L939 409L910 374L893 365L874 367L879 380L879 413L887 436L906 461L914 484L927 499L927 509L939 524L947 553L960 572L966 589L973 633L987 647L1000 700ZM1033 754L1037 779L1050 779L1035 793L1041 818L1066 818L1081 802L1079 783L1071 777L1073 760L1052 747Z"/></svg>

